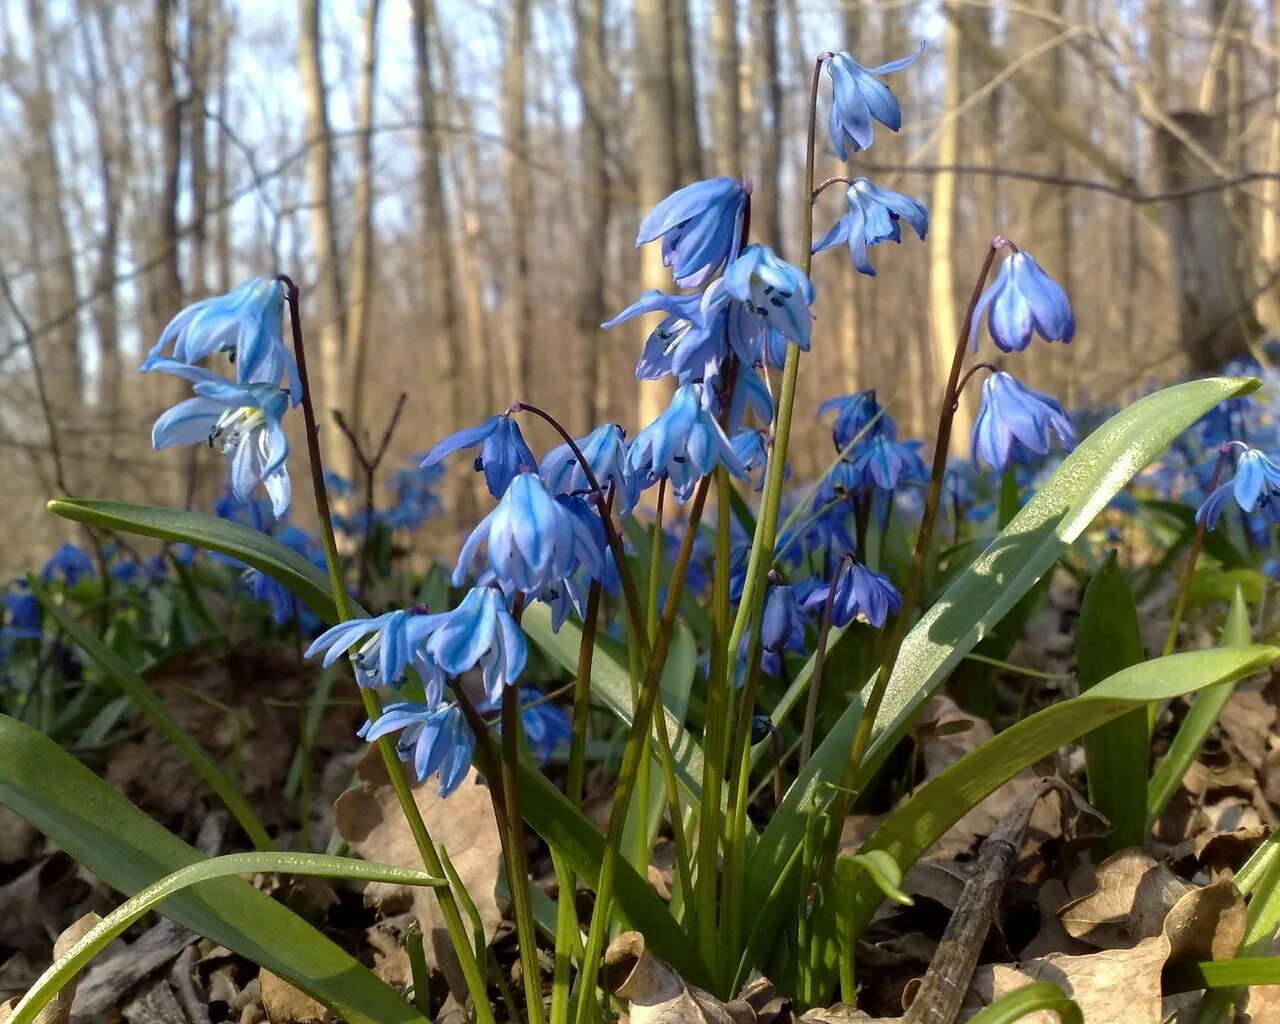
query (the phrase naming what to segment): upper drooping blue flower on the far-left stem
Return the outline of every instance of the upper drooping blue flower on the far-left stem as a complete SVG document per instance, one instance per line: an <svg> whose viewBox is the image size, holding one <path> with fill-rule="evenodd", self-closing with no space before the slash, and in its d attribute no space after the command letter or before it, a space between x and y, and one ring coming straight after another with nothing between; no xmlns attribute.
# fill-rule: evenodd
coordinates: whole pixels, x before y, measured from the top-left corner
<svg viewBox="0 0 1280 1024"><path fill-rule="evenodd" d="M188 379L184 369L215 352L227 352L241 384L280 384L288 379L293 403L302 384L284 346L284 287L275 278L251 278L224 296L206 298L179 312L160 334L142 371L163 370ZM173 349L172 356L164 351Z"/></svg>

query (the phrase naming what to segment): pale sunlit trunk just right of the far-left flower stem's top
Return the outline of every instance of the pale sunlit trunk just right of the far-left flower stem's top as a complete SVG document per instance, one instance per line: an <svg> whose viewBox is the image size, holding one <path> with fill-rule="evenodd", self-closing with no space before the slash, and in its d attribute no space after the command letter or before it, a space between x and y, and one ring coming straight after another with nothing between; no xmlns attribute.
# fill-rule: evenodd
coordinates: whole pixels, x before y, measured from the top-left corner
<svg viewBox="0 0 1280 1024"><path fill-rule="evenodd" d="M333 205L333 145L329 133L329 97L324 81L321 0L300 0L298 70L306 104L308 230L316 261L317 337L320 339L320 385L330 407L342 402L346 305L340 276L338 237Z"/></svg>

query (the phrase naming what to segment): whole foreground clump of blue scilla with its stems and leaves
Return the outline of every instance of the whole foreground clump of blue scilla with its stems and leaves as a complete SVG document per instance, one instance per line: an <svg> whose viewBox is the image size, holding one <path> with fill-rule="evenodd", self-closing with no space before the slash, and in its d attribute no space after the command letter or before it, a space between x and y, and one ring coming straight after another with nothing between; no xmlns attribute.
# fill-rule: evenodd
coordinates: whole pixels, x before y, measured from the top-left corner
<svg viewBox="0 0 1280 1024"><path fill-rule="evenodd" d="M860 271L874 274L872 248L900 241L904 223L920 238L928 230L922 204L867 178L815 184L823 73L832 86L831 145L850 159L874 143L877 124L900 128L897 100L882 79L918 56L874 68L847 52L817 58L795 197L804 228L796 262L751 237L746 177L691 183L644 218L637 244L660 244L676 288L692 291L649 292L605 326L660 314L636 367L640 379L673 384L658 419L630 439L613 424L575 438L552 412L518 397L428 452L424 467L472 453L494 499L462 547L445 607L366 611L348 593L294 283L257 278L169 325L143 370L189 380L193 396L155 424L155 447L220 449L234 495L248 502L261 489L279 516L293 500L297 468L284 421L301 408L326 572L243 524L101 500L61 499L51 508L96 527L232 556L326 622L307 654L317 669L349 664L367 714L360 735L388 768L421 861L343 867L298 854L275 861L262 851L251 867L227 870L381 872L433 886L466 983L457 995L476 1021L493 1024L495 979L468 923L470 895L413 797L415 786L434 786L449 799L474 765L499 824L521 1012L531 1024L589 1024L611 1014L599 970L620 927L640 931L654 954L723 997L759 970L800 1004L822 1004L837 986L854 1002L854 950L872 913L883 899L902 899L901 873L987 794L1126 712L1280 657L1245 645L1120 666L931 781L859 850L841 849L855 800L876 787L887 755L960 660L1144 465L1219 402L1257 387L1247 378L1187 383L1139 401L1075 447L1071 421L1052 397L992 362L966 367L970 347L1015 357L1037 338L1068 343L1075 332L1062 289L1030 253L996 237L940 394L932 462L919 443L899 436L874 392L860 392L823 406L835 412L836 457L813 486L788 492L796 383L804 353L822 344L813 256L846 247ZM815 244L819 201L837 184L846 209ZM234 379L218 369L228 365ZM998 534L961 544L957 516L956 543L940 552L940 517L960 472L947 461L952 424L972 383L982 389L977 467L1010 477L1055 443L1074 452L1020 511L1014 503ZM563 443L539 457L521 430L529 417L544 420ZM1233 494L1243 507L1265 504L1271 481L1271 470L1242 457ZM1210 500L1208 517L1226 499L1215 493ZM127 675L56 602L50 608L91 657ZM522 691L535 660L540 672L572 681L563 785L539 767L524 735ZM132 685L145 700L145 682ZM625 733L603 835L581 810L588 737L602 709ZM137 900L151 906L163 899L163 913L348 1020L421 1020L421 1000L402 998L284 906L234 879L209 881L215 861L200 861L140 820L37 733L13 721L0 732L0 799L116 888L140 893L125 905L129 913ZM794 755L783 733L795 739ZM198 737L179 739L198 762ZM47 769L31 771L54 762L63 765L56 783ZM206 764L204 774L216 782L216 765ZM771 778L776 801L762 809L753 794ZM269 845L223 783L218 791L239 809L246 832ZM663 827L676 863L669 900L645 878ZM535 836L550 852L562 893L550 914L530 881ZM579 887L594 893L586 922L568 899ZM104 936L95 933L93 942ZM91 947L55 964L15 1019L32 1019ZM543 947L553 951L549 977Z"/></svg>

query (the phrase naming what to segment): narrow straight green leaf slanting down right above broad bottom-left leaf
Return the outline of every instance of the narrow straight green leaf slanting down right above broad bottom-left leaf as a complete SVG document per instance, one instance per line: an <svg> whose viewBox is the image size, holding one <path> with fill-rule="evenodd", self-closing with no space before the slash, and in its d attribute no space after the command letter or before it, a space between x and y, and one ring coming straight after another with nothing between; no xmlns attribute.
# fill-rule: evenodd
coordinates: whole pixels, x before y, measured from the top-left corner
<svg viewBox="0 0 1280 1024"><path fill-rule="evenodd" d="M275 844L266 833L266 828L248 799L223 772L209 751L196 742L195 737L169 714L169 709L155 695L147 681L134 672L120 655L81 626L65 608L50 596L35 576L28 575L27 584L31 586L31 593L36 595L45 611L58 621L59 627L70 641L125 692L133 705L151 719L169 742L178 748L187 763L196 769L196 774L204 780L205 785L218 795L239 822L253 846L259 850L274 850Z"/></svg>

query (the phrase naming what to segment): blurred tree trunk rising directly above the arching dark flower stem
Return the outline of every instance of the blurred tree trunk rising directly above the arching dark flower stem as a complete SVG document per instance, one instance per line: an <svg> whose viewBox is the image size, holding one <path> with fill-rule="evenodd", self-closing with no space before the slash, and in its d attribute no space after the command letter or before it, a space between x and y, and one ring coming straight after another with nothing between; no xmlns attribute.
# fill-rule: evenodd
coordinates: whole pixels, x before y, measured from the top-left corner
<svg viewBox="0 0 1280 1024"><path fill-rule="evenodd" d="M532 0L513 0L508 6L507 38L502 78L503 136L507 142L507 205L511 216L511 261L507 273L507 310L512 344L512 389L529 398L532 387L532 306L530 302L527 52Z"/></svg>

